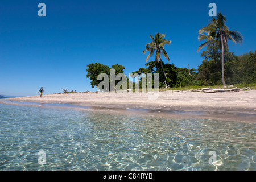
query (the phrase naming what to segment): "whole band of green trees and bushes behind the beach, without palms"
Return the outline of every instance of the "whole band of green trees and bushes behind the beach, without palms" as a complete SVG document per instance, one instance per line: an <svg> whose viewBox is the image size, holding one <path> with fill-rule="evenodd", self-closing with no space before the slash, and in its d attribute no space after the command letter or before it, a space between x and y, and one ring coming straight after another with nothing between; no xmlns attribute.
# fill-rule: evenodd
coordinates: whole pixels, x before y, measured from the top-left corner
<svg viewBox="0 0 256 182"><path fill-rule="evenodd" d="M174 64L164 64L163 68L171 88L195 86L195 85L221 85L221 50L218 46L210 44L205 51L201 53L203 57L202 64L198 69L177 68ZM228 49L224 51L225 78L227 84L250 84L256 82L256 51L245 53L240 56L234 55ZM100 73L106 73L109 76L110 68L100 63L91 63L87 69L87 77L90 78L92 87L97 86L101 80L97 80ZM125 67L119 64L112 65L115 69L115 75L123 73ZM159 74L159 88L165 88L164 81L166 78L162 71L160 62L150 61L146 63L146 68L139 68L138 71L132 72L141 75L144 73ZM127 76L128 77L128 76ZM118 81L115 81L117 84ZM154 85L154 83L153 83ZM128 85L127 85L128 88Z"/></svg>

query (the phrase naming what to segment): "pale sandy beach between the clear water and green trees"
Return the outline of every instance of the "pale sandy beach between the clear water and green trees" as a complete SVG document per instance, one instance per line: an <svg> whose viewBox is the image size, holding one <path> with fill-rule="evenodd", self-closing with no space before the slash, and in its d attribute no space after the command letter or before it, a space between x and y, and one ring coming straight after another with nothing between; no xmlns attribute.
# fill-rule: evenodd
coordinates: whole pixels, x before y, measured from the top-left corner
<svg viewBox="0 0 256 182"><path fill-rule="evenodd" d="M152 93L69 93L7 98L2 100L38 103L66 103L98 111L152 114L161 117L205 118L256 122L256 90L225 93L191 91ZM1 101L0 101L1 103ZM10 104L10 103L9 103Z"/></svg>

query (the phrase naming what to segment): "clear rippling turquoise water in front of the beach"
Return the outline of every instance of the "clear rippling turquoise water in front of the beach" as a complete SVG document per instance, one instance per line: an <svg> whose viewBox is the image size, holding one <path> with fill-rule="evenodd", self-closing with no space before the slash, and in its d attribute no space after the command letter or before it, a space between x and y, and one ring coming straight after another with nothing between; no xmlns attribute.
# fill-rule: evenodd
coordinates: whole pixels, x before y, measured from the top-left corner
<svg viewBox="0 0 256 182"><path fill-rule="evenodd" d="M253 123L0 104L0 170L256 170L255 129Z"/></svg>

